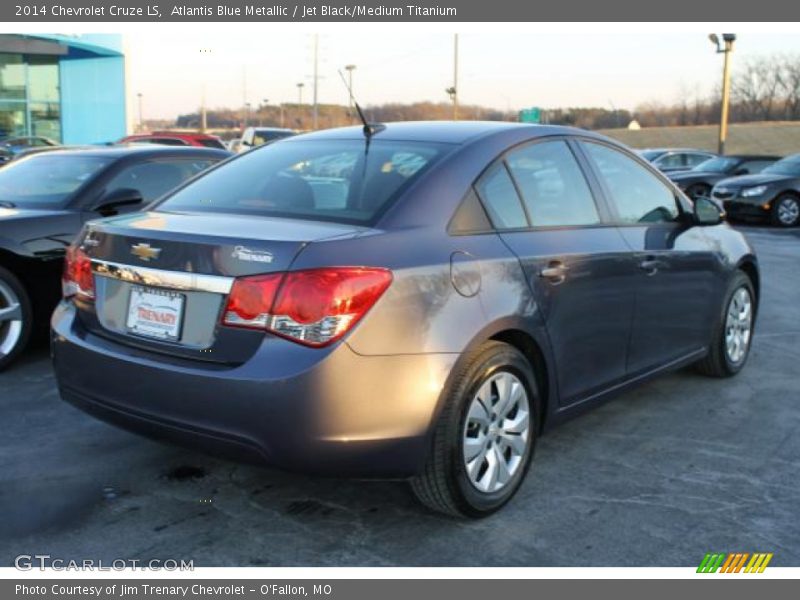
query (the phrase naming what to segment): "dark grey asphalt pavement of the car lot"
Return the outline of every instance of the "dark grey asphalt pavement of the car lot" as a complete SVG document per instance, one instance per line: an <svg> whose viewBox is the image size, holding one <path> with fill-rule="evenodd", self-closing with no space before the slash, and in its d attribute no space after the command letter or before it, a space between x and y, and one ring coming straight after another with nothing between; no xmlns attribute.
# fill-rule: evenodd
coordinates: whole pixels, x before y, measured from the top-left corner
<svg viewBox="0 0 800 600"><path fill-rule="evenodd" d="M800 230L745 231L763 278L745 370L667 375L548 433L517 497L477 522L426 512L401 482L241 466L115 429L59 399L40 345L0 374L0 565L694 566L759 551L800 566Z"/></svg>

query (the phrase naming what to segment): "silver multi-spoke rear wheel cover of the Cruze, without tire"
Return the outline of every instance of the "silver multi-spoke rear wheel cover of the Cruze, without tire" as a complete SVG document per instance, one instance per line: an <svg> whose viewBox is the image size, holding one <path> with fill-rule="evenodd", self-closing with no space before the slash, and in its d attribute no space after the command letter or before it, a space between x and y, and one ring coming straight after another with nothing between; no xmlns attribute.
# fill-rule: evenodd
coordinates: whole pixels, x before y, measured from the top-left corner
<svg viewBox="0 0 800 600"><path fill-rule="evenodd" d="M491 494L508 485L525 463L530 423L528 392L516 375L501 371L481 385L463 433L464 466L473 487Z"/></svg>

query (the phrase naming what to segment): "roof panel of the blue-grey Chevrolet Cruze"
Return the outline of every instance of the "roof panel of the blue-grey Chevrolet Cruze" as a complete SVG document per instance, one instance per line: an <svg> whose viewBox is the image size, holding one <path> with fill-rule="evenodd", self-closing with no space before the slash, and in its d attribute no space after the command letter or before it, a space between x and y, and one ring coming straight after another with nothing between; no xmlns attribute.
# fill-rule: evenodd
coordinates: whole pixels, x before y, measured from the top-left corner
<svg viewBox="0 0 800 600"><path fill-rule="evenodd" d="M446 144L465 144L494 134L528 130L530 137L546 135L584 135L601 137L589 131L561 125L533 125L527 123L509 123L506 121L403 121L398 123L382 123L383 129L376 131L373 140L391 140L406 142L439 142ZM324 129L311 133L303 133L285 140L282 144L292 144L303 140L361 140L364 139L363 127L340 127Z"/></svg>

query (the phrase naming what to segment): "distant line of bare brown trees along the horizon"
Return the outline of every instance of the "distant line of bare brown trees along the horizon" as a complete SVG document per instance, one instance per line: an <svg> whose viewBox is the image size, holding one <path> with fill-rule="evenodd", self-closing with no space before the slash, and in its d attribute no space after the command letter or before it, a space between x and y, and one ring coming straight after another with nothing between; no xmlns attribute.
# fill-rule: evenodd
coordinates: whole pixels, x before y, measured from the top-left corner
<svg viewBox="0 0 800 600"><path fill-rule="evenodd" d="M636 120L642 127L713 125L719 123L721 85L711 94L683 89L673 103L647 102L635 110L613 108L556 108L542 111L546 123L574 125L585 129L627 127ZM447 102L388 103L365 109L371 121L416 121L453 118ZM516 111L483 106L460 106L464 120L516 121ZM341 127L356 122L347 106L318 106L317 127ZM800 120L800 55L773 55L745 61L735 70L731 85L731 122ZM247 125L313 128L313 108L308 104L262 105L248 109L215 109L206 115L209 129L240 129ZM151 123L151 126L156 125ZM168 126L161 122L158 126ZM200 126L199 112L181 115L174 123L181 128Z"/></svg>

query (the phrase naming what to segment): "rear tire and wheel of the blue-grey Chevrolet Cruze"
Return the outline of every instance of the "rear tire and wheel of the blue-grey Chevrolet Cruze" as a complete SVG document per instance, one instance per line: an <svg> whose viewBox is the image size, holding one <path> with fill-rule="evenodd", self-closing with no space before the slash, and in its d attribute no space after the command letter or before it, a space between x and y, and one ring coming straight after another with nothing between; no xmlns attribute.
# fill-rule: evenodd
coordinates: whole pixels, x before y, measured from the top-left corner
<svg viewBox="0 0 800 600"><path fill-rule="evenodd" d="M525 356L502 342L487 342L457 369L427 463L411 487L434 511L481 518L514 496L530 467L538 387Z"/></svg>

